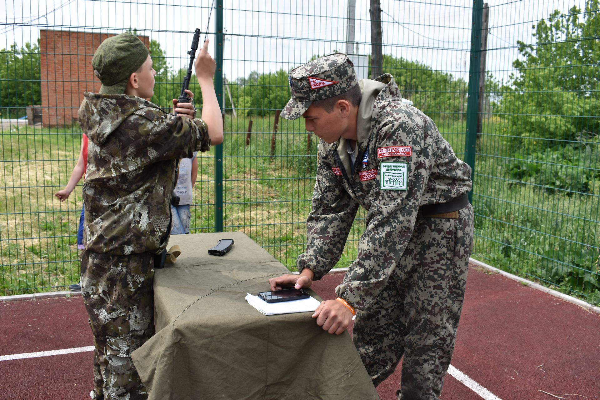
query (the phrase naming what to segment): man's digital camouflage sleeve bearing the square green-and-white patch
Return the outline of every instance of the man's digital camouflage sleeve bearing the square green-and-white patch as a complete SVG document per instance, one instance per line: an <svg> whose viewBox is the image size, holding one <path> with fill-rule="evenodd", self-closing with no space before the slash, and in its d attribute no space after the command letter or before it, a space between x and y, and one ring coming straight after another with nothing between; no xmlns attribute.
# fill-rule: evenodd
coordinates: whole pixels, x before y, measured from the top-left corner
<svg viewBox="0 0 600 400"><path fill-rule="evenodd" d="M378 148L411 146L409 157L389 157L386 163L407 164L407 190L380 189L378 166L367 212L365 231L358 243L358 257L350 264L342 284L335 288L357 309L365 309L385 286L413 233L422 193L437 157L442 136L433 121L422 113L398 115L385 112L371 140ZM424 243L430 245L430 243Z"/></svg>

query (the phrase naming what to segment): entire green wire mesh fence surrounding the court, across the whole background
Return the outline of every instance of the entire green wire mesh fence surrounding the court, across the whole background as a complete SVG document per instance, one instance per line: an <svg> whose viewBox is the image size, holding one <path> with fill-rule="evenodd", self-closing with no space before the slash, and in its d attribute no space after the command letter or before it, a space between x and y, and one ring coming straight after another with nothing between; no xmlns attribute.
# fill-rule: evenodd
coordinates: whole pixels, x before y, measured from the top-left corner
<svg viewBox="0 0 600 400"><path fill-rule="evenodd" d="M38 3L25 11L6 2L0 16L3 294L78 279L80 183L63 203L53 194L76 166L82 93L99 86L91 56L124 31L151 50L151 100L165 109L178 97L191 32L208 34L225 138L198 156L191 232L244 231L293 267L317 138L303 121L278 117L287 73L340 51L370 77L375 20L381 71L475 167L474 257L600 302L596 1L575 2L577 10L564 1L382 1L379 17L366 0ZM356 257L364 216L338 266Z"/></svg>

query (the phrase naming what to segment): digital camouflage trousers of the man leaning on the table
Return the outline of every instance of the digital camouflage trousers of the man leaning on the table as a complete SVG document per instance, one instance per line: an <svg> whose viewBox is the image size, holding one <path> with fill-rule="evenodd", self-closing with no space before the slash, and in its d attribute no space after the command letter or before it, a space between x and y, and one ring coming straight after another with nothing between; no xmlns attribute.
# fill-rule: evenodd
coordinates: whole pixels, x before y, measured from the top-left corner
<svg viewBox="0 0 600 400"><path fill-rule="evenodd" d="M385 289L356 312L353 340L376 386L404 357L400 400L437 400L442 392L473 246L473 207L458 213L417 218Z"/></svg>

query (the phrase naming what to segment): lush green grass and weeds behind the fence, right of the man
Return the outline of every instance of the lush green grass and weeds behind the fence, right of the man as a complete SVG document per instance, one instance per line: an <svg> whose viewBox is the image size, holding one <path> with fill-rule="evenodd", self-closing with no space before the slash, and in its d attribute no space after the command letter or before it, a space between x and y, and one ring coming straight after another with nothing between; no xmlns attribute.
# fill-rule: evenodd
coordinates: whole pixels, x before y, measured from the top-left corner
<svg viewBox="0 0 600 400"><path fill-rule="evenodd" d="M599 303L598 179L578 185L589 191L571 189L600 170L598 145L563 144L563 158L538 161L530 155L560 149L546 151L535 139L515 146L504 129L502 121L488 122L478 142L473 257ZM568 148L575 156L568 156ZM586 157L585 163L575 160ZM535 173L514 173L515 166Z"/></svg>

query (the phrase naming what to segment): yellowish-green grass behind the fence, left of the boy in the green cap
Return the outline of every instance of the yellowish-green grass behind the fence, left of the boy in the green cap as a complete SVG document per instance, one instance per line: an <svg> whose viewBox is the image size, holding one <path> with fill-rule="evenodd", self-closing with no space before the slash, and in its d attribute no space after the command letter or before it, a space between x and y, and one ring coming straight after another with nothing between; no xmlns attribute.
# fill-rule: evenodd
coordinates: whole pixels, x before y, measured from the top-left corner
<svg viewBox="0 0 600 400"><path fill-rule="evenodd" d="M46 291L79 281L81 189L64 203L53 194L68 181L80 134L32 127L0 134L0 294Z"/></svg>

